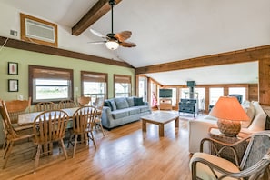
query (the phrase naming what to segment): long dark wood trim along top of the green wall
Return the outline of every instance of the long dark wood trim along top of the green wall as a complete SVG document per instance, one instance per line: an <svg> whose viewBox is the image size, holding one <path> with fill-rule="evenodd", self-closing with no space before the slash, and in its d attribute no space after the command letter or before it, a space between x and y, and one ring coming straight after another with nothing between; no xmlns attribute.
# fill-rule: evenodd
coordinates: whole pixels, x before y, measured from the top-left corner
<svg viewBox="0 0 270 180"><path fill-rule="evenodd" d="M0 45L4 45L6 39L7 39L6 37L0 36ZM48 54L48 55L59 55L59 56L70 57L70 58L75 58L75 59L80 59L80 60L85 60L85 61L92 61L92 62L96 62L96 63L102 63L105 65L118 65L118 66L134 68L132 65L129 65L125 62L112 61L111 59L106 59L106 58L98 57L95 55L86 55L83 53L68 51L65 49L55 48L52 46L28 43L28 42L20 41L20 40L16 40L16 39L8 38L5 46L16 48L16 49L22 49L22 50L26 50L26 51L33 51L33 52L37 52L37 53L44 53L44 54Z"/></svg>

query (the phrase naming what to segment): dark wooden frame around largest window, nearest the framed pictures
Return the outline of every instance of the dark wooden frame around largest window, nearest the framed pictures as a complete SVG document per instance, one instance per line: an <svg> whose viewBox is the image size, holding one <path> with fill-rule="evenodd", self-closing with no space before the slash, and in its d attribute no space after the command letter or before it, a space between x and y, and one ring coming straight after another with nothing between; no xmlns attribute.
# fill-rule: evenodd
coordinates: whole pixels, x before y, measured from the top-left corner
<svg viewBox="0 0 270 180"><path fill-rule="evenodd" d="M41 66L41 65L28 65L28 71L29 71L29 76L28 76L28 89L29 89L29 96L32 97L32 104L35 105L39 102L43 102L43 101L51 101L54 103L58 103L61 100L64 100L63 98L59 98L59 99L48 99L48 100L41 100L38 101L35 99L36 95L34 95L34 70L35 69L44 69L44 70L51 70L51 71L59 71L59 72L65 72L69 74L69 89L70 89L70 93L68 95L68 98L66 99L74 99L74 76L73 76L73 69L66 69L66 68L58 68L58 67L49 67L49 66Z"/></svg>

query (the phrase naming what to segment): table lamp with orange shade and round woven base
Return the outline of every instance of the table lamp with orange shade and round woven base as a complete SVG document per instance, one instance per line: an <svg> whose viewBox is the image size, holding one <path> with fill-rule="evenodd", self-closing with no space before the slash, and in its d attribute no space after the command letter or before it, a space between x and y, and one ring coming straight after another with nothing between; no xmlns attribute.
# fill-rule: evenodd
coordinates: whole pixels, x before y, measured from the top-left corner
<svg viewBox="0 0 270 180"><path fill-rule="evenodd" d="M221 96L210 115L218 118L219 131L227 136L236 136L241 130L241 121L249 120L245 110L234 96Z"/></svg>

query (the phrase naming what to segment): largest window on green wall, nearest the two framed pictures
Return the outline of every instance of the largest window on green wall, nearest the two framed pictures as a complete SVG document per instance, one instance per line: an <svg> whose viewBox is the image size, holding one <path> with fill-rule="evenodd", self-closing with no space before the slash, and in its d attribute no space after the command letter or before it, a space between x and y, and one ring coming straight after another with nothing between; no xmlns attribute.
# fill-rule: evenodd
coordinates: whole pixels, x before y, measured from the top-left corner
<svg viewBox="0 0 270 180"><path fill-rule="evenodd" d="M73 99L73 70L29 65L29 96L33 103Z"/></svg>

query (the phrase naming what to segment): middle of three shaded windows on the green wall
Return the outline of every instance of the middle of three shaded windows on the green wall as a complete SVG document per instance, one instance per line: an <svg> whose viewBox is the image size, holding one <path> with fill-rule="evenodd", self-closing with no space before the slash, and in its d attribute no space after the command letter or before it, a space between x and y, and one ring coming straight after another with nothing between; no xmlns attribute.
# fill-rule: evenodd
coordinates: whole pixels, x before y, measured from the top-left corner
<svg viewBox="0 0 270 180"><path fill-rule="evenodd" d="M107 74L81 71L82 95L107 98Z"/></svg>

